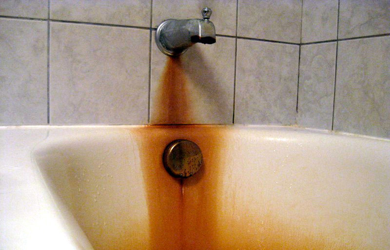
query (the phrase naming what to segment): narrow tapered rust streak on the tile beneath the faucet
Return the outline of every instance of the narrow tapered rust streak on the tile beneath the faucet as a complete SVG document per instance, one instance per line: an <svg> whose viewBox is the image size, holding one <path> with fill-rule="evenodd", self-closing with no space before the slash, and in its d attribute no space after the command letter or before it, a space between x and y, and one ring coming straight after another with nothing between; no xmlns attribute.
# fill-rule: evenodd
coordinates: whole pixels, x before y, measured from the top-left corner
<svg viewBox="0 0 390 250"><path fill-rule="evenodd" d="M156 124L185 124L192 117L187 78L180 57L168 57L152 107Z"/></svg>

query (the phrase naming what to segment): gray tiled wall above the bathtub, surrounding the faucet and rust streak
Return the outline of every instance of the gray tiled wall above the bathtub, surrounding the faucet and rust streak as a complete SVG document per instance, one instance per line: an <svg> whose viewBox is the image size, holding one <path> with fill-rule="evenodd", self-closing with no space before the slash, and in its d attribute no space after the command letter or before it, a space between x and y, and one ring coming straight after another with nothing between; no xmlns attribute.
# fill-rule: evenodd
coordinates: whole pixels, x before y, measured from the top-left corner
<svg viewBox="0 0 390 250"><path fill-rule="evenodd" d="M155 30L204 6L217 42L180 58L180 123L390 138L389 0L1 0L0 125L167 122Z"/></svg>

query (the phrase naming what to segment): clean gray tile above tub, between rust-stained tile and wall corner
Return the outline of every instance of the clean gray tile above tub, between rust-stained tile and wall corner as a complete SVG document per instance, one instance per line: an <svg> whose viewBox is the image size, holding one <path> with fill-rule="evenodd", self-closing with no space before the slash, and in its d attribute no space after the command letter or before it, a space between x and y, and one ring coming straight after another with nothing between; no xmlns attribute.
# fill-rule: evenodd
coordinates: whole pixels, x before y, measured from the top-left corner
<svg viewBox="0 0 390 250"><path fill-rule="evenodd" d="M299 46L238 39L234 123L296 122Z"/></svg>

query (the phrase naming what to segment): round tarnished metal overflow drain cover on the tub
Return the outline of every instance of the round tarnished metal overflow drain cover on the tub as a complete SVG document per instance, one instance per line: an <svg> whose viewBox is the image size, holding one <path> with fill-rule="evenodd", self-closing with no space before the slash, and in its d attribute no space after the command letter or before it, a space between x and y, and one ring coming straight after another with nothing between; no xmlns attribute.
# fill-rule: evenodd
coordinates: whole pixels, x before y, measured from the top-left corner
<svg viewBox="0 0 390 250"><path fill-rule="evenodd" d="M176 140L164 150L162 162L173 177L187 178L194 175L202 165L203 157L196 143Z"/></svg>

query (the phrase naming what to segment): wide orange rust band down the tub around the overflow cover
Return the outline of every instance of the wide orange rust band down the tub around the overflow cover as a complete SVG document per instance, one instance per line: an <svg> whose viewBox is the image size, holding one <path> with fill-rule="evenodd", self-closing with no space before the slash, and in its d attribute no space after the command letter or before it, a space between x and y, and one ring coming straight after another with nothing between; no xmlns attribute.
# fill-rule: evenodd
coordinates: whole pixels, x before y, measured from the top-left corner
<svg viewBox="0 0 390 250"><path fill-rule="evenodd" d="M209 249L213 246L217 210L195 209L200 214L193 214L192 209L198 205L215 207L213 192L220 185L213 177L218 176L219 160L223 157L221 132L223 129L215 126L151 125L135 133L146 183L152 249ZM203 165L191 178L175 179L162 164L165 146L176 139L193 141L202 150ZM186 192L193 188L195 193L202 194L196 199L192 199L194 196L186 198Z"/></svg>

